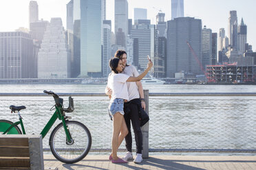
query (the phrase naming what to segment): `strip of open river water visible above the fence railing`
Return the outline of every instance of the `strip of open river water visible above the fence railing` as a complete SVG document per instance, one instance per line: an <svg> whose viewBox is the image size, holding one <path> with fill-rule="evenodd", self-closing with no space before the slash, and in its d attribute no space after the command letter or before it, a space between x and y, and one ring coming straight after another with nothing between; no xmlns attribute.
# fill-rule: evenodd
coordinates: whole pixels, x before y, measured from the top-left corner
<svg viewBox="0 0 256 170"><path fill-rule="evenodd" d="M0 84L0 93L104 93L105 84ZM149 93L256 93L254 85L144 85Z"/></svg>

